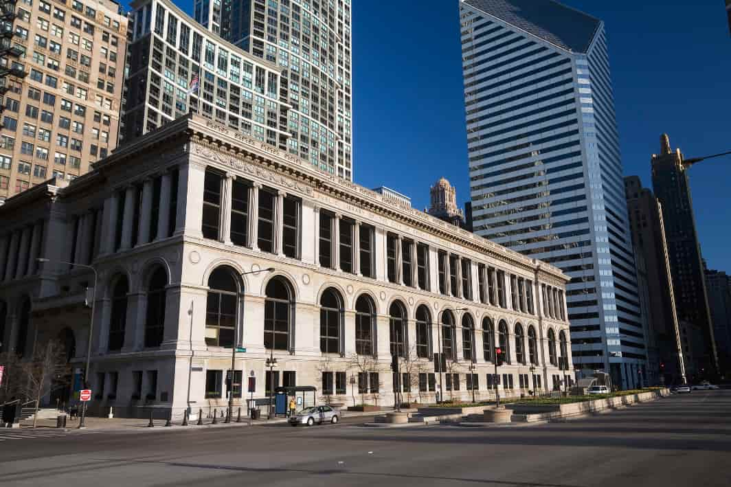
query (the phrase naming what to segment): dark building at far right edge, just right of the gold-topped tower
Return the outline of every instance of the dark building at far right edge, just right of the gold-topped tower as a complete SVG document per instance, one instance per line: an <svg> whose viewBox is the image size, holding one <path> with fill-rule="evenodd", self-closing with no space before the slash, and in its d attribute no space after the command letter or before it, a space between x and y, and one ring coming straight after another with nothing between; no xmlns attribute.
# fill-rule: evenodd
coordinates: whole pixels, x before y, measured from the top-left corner
<svg viewBox="0 0 731 487"><path fill-rule="evenodd" d="M731 276L705 268L705 287L721 372L731 371Z"/></svg>

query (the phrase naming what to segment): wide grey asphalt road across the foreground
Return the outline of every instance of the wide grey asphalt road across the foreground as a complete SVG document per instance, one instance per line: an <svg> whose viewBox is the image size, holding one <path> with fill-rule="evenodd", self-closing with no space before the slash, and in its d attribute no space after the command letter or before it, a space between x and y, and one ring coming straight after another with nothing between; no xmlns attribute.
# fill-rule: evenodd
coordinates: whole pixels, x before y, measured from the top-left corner
<svg viewBox="0 0 731 487"><path fill-rule="evenodd" d="M0 442L0 485L731 486L730 453L731 390L720 390L510 428L38 434Z"/></svg>

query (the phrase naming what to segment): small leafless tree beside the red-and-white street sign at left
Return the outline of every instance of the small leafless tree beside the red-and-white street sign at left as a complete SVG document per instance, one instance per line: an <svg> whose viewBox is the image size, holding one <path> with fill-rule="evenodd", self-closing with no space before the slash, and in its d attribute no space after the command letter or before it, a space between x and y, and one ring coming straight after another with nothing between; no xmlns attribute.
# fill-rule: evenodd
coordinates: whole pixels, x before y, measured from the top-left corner
<svg viewBox="0 0 731 487"><path fill-rule="evenodd" d="M33 415L33 427L36 427L38 407L41 399L50 390L61 385L69 373L69 364L66 360L66 350L61 341L51 340L45 347L39 347L31 360L20 364L22 381L26 388L26 397L36 402Z"/></svg>

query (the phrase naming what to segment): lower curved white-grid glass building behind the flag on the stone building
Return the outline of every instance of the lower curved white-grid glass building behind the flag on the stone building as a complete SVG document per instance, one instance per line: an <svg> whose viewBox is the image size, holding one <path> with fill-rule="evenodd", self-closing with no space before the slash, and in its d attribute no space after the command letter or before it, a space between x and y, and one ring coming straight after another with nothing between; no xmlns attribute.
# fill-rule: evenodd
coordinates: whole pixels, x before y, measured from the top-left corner
<svg viewBox="0 0 731 487"><path fill-rule="evenodd" d="M286 148L281 69L203 29L172 1L132 4L124 143L198 113Z"/></svg>

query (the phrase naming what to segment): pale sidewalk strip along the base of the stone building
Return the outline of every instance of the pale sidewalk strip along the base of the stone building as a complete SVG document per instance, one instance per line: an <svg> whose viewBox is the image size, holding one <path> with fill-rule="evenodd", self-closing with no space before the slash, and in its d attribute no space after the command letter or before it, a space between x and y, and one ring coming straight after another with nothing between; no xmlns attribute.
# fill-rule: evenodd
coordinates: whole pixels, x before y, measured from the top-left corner
<svg viewBox="0 0 731 487"><path fill-rule="evenodd" d="M393 409L384 409L382 411L378 412L351 412L351 411L342 411L341 417L342 418L358 418L358 417L368 417L368 416L376 416L376 415L383 415L387 412L391 412ZM88 430L99 430L99 431L170 431L171 429L177 429L177 430L183 430L183 429L195 429L195 428L232 428L235 426L249 426L249 423L251 423L251 426L265 426L270 424L282 424L287 423L287 418L274 418L273 420L251 420L249 421L249 418L241 418L240 423L236 423L236 419L234 418L232 423L224 423L224 419L219 418L218 424L213 424L213 420L210 418L203 418L203 424L197 425L196 421L191 421L189 423L189 426L186 426L185 428L181 428L181 422L178 420L177 422L173 423L172 426L169 428L165 428L165 420L153 420L153 424L155 425L154 428L149 428L148 425L150 423L149 418L143 419L143 418L94 418L87 416L84 419L84 423L86 426L86 429ZM33 422L31 421L23 421L20 423L20 427L23 429L31 429L33 426ZM71 419L67 418L66 422L66 429L76 429L79 426L79 420L77 419ZM40 429L49 429L53 428L56 429L56 419L53 420L38 420L37 427ZM0 430L1 431L1 430Z"/></svg>

